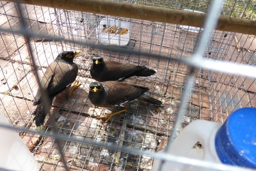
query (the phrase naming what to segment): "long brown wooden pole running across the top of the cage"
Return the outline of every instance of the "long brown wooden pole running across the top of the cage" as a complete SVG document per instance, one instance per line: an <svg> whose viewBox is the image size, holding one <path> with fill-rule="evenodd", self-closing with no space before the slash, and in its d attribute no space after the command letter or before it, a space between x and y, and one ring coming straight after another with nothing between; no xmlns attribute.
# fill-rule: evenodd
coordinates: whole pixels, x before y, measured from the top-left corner
<svg viewBox="0 0 256 171"><path fill-rule="evenodd" d="M16 2L17 0L5 1ZM113 15L124 18L194 27L203 27L206 17L203 13L108 0L19 0L19 2L22 4L99 13L103 15ZM220 16L216 30L256 35L256 21Z"/></svg>

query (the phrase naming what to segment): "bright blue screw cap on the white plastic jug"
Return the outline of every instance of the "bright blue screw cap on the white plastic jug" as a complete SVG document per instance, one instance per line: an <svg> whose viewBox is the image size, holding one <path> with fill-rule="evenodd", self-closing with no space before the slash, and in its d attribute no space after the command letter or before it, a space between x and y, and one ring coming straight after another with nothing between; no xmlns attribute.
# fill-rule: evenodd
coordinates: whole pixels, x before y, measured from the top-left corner
<svg viewBox="0 0 256 171"><path fill-rule="evenodd" d="M231 113L216 133L215 148L222 163L256 168L256 108Z"/></svg>

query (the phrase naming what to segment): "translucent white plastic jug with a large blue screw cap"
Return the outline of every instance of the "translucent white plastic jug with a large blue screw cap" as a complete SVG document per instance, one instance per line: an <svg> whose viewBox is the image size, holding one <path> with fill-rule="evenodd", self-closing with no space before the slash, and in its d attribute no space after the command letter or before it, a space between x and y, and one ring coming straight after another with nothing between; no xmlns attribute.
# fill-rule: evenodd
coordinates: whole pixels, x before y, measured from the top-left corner
<svg viewBox="0 0 256 171"><path fill-rule="evenodd" d="M198 141L203 149L192 149ZM187 125L172 142L167 153L208 162L256 168L256 108L242 108L222 123L196 120ZM154 160L152 171L162 162ZM164 162L163 171L188 171L193 167ZM197 168L198 170L198 168Z"/></svg>

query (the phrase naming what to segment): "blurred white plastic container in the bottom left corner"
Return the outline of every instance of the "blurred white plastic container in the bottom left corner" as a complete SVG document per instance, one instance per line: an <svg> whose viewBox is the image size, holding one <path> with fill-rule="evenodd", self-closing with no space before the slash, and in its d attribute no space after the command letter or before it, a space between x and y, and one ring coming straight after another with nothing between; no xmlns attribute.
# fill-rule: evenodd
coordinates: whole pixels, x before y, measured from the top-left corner
<svg viewBox="0 0 256 171"><path fill-rule="evenodd" d="M0 124L10 125L0 112ZM13 171L37 171L38 163L13 129L0 127L0 168Z"/></svg>

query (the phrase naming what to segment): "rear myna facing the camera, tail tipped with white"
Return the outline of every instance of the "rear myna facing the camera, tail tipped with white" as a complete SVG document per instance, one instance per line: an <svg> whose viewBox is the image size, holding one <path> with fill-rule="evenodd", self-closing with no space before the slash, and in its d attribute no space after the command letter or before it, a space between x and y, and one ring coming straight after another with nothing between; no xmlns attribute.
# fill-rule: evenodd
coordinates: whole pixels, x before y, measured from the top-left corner
<svg viewBox="0 0 256 171"><path fill-rule="evenodd" d="M120 81L132 76L148 77L156 74L155 70L148 69L145 66L136 66L117 61L103 61L103 58L99 56L94 56L92 62L90 74L93 79L99 82Z"/></svg>

